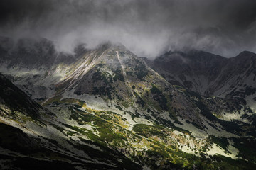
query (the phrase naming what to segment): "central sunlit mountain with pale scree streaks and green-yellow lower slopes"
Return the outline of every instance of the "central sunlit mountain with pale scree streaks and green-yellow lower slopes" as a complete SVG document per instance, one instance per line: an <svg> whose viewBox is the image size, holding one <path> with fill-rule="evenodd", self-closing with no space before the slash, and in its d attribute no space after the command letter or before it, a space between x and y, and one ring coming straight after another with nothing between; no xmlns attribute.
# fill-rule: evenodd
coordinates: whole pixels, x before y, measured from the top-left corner
<svg viewBox="0 0 256 170"><path fill-rule="evenodd" d="M15 127L26 138L45 141L39 146L43 150L61 154L43 159L66 162L70 169L255 167L255 112L235 96L206 98L191 91L170 76L178 74L175 64L160 70L160 59L146 64L124 46L110 43L93 50L79 46L70 56L55 52L48 40L1 43L0 72L43 106L1 76L3 89L18 93L1 92L1 122L4 129ZM41 60L27 60L33 55ZM173 58L183 60L164 60L171 64ZM227 59L208 54L207 61L195 74L210 74L210 81L223 72ZM191 74L185 60L177 63L184 74ZM28 103L23 107L29 109L19 108L11 96L21 96L16 101ZM6 162L1 166L9 166Z"/></svg>

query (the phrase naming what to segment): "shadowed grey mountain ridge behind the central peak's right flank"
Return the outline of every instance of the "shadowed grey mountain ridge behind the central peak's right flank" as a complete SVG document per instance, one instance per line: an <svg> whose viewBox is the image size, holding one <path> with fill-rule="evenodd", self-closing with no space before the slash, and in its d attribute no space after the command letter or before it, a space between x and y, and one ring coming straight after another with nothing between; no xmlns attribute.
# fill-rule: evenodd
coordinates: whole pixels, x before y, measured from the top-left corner
<svg viewBox="0 0 256 170"><path fill-rule="evenodd" d="M203 96L237 98L255 111L256 55L244 51L225 58L203 51L166 52L152 68L172 84L184 86Z"/></svg>

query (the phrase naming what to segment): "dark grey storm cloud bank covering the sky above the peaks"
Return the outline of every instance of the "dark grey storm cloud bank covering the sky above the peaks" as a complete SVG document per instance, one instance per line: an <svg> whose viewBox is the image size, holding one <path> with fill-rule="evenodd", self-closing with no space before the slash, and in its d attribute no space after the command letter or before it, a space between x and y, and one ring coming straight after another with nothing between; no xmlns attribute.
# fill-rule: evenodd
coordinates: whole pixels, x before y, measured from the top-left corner
<svg viewBox="0 0 256 170"><path fill-rule="evenodd" d="M255 0L1 0L0 35L43 37L58 50L121 42L137 55L256 52Z"/></svg>

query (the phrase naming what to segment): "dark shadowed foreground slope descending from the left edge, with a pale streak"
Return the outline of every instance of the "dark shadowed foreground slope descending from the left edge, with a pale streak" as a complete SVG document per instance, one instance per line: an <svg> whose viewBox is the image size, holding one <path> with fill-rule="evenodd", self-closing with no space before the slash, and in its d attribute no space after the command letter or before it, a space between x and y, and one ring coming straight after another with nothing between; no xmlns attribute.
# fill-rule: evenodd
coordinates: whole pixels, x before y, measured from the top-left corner
<svg viewBox="0 0 256 170"><path fill-rule="evenodd" d="M85 127L90 130L90 126L68 122L69 112L73 111L69 107L65 115L51 113L2 74L0 82L1 169L140 168L121 152L88 140L83 130Z"/></svg>

